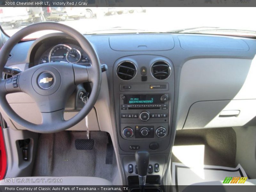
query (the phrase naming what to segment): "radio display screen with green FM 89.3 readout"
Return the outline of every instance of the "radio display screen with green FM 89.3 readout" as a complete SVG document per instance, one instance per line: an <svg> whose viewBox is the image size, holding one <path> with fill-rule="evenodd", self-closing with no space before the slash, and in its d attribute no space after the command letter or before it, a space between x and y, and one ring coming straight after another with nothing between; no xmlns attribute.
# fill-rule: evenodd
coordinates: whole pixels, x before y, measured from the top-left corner
<svg viewBox="0 0 256 192"><path fill-rule="evenodd" d="M124 94L124 104L162 104L162 94Z"/></svg>

